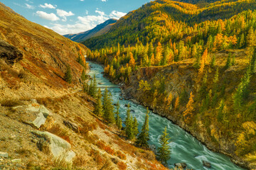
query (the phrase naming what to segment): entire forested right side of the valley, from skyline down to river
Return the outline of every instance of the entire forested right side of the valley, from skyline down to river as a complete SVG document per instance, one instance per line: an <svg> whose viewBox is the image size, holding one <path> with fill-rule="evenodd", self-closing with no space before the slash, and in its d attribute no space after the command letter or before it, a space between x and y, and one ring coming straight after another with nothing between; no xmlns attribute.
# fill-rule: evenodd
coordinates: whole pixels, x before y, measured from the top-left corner
<svg viewBox="0 0 256 170"><path fill-rule="evenodd" d="M85 41L88 56L128 98L255 169L255 5L150 2Z"/></svg>

